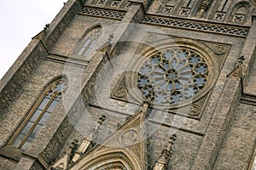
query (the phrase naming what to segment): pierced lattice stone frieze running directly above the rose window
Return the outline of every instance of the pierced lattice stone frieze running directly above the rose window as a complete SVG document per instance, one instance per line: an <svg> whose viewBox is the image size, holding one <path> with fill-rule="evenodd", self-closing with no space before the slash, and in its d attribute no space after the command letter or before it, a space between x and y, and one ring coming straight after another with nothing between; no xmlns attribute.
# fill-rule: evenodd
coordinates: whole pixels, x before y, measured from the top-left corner
<svg viewBox="0 0 256 170"><path fill-rule="evenodd" d="M227 34L231 36L240 36L247 37L248 29L247 28L233 28L228 26L216 26L216 25L207 25L200 24L195 22L183 21L183 20L172 20L172 19L164 19L158 17L146 16L143 18L142 23L144 24L155 24L162 26L172 26L185 28L195 31L209 31L213 33Z"/></svg>

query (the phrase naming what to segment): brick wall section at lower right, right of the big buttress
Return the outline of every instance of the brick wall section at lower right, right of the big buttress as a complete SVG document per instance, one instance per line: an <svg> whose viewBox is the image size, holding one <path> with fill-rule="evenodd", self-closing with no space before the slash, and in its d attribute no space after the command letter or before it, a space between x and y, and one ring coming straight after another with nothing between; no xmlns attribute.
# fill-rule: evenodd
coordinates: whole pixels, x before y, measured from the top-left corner
<svg viewBox="0 0 256 170"><path fill-rule="evenodd" d="M214 169L247 169L256 139L255 113L252 105L238 106Z"/></svg>

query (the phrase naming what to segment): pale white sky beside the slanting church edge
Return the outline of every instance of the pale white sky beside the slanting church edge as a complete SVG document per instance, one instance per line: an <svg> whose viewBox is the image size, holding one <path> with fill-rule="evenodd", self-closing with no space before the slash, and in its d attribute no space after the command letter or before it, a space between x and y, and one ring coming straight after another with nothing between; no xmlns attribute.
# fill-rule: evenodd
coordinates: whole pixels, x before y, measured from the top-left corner
<svg viewBox="0 0 256 170"><path fill-rule="evenodd" d="M0 78L67 0L0 0Z"/></svg>

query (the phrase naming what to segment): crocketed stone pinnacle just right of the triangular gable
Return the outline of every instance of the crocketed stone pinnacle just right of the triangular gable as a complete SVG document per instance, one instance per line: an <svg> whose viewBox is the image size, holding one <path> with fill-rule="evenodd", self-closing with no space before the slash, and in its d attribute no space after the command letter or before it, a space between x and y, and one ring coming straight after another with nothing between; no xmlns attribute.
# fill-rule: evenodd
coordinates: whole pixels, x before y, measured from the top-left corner
<svg viewBox="0 0 256 170"><path fill-rule="evenodd" d="M166 170L166 165L169 162L170 156L172 156L172 145L176 139L177 135L175 133L172 134L172 137L169 140L169 144L164 150L162 150L160 157L156 161L154 170Z"/></svg>

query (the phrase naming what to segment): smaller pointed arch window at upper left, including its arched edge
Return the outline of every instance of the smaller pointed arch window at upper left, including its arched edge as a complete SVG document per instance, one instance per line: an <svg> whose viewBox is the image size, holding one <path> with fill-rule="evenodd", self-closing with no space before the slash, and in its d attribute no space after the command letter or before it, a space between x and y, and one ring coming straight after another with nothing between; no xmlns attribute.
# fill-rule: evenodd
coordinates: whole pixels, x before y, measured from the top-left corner
<svg viewBox="0 0 256 170"><path fill-rule="evenodd" d="M73 54L84 57L88 56L101 34L101 25L97 24L96 26L90 27L87 31L84 32L84 35L79 40L79 44L77 45L77 48L75 48Z"/></svg>

